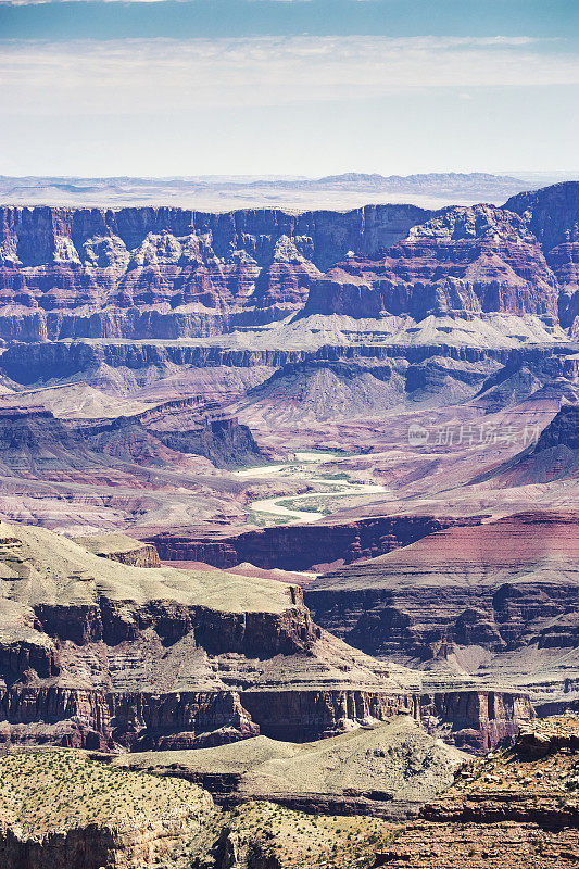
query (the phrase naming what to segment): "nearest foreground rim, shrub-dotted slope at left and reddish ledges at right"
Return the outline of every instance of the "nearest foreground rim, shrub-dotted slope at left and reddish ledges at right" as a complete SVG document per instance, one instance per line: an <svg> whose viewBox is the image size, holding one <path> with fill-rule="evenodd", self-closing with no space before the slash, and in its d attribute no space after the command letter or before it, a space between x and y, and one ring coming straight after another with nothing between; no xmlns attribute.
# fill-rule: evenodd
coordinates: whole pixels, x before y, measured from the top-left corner
<svg viewBox="0 0 579 869"><path fill-rule="evenodd" d="M38 869L55 861L72 869L574 866L578 740L577 718L547 718L521 731L511 750L462 764L453 758L454 780L404 823L305 814L251 798L223 809L187 780L187 753L161 753L156 766L135 756L134 769L103 763L98 753L15 753L0 758L0 855L7 865ZM203 766L199 754L191 760ZM378 750L367 763L392 767L394 758ZM298 763L291 753L285 760L300 769L299 755ZM256 781L267 768L263 745Z"/></svg>

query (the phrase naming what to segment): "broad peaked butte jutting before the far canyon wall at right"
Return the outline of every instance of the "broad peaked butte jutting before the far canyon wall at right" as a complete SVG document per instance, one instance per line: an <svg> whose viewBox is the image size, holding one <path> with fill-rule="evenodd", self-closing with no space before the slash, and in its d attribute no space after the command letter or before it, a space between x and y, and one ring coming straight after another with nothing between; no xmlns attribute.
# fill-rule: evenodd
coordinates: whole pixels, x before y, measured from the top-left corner
<svg viewBox="0 0 579 869"><path fill-rule="evenodd" d="M557 318L558 286L526 222L490 205L444 209L375 257L314 281L304 314L352 317L504 312Z"/></svg>

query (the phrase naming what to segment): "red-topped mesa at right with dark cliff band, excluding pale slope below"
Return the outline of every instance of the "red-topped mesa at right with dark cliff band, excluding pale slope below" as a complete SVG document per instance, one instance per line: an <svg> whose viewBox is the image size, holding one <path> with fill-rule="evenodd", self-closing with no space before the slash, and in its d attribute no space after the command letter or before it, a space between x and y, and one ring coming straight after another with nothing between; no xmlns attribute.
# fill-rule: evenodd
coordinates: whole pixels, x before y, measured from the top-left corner
<svg viewBox="0 0 579 869"><path fill-rule="evenodd" d="M430 659L449 643L516 647L537 619L565 614L577 601L576 528L577 516L565 513L449 528L326 574L305 600L319 624L374 654L404 650Z"/></svg>

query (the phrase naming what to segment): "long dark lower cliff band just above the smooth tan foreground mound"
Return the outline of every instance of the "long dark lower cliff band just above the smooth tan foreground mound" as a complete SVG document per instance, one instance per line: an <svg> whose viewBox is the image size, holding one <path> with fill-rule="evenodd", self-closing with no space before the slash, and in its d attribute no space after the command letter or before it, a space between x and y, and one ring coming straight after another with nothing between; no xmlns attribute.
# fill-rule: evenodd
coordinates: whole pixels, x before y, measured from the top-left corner
<svg viewBox="0 0 579 869"><path fill-rule="evenodd" d="M0 742L130 752L224 745L257 734L310 742L411 715L432 736L475 754L508 744L533 717L504 691L251 690L125 693L13 687L0 691Z"/></svg>

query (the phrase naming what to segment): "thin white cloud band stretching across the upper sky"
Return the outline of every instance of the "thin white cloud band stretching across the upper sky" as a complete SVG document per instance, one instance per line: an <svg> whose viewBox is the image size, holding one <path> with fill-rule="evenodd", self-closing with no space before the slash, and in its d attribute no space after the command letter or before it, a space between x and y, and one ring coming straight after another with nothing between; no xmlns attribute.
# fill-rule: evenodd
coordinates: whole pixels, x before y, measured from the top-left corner
<svg viewBox="0 0 579 869"><path fill-rule="evenodd" d="M529 37L260 37L0 43L0 110L175 112L416 89L579 84L579 61Z"/></svg>

